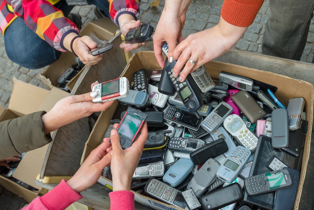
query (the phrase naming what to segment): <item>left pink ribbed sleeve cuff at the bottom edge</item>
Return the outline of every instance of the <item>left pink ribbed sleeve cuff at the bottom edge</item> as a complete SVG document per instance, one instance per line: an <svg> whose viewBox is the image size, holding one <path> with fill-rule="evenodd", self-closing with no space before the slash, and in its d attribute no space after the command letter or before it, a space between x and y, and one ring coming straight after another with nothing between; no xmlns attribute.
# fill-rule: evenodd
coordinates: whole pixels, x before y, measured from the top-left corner
<svg viewBox="0 0 314 210"><path fill-rule="evenodd" d="M72 190L65 180L62 180L59 185L41 196L40 199L48 209L63 210L82 197Z"/></svg>

